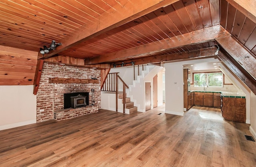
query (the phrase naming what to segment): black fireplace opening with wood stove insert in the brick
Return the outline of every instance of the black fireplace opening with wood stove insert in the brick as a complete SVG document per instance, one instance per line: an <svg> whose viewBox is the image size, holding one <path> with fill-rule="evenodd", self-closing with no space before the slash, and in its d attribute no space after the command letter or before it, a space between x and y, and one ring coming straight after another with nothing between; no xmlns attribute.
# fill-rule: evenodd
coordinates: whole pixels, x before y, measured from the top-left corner
<svg viewBox="0 0 256 167"><path fill-rule="evenodd" d="M89 105L89 92L64 93L64 109Z"/></svg>

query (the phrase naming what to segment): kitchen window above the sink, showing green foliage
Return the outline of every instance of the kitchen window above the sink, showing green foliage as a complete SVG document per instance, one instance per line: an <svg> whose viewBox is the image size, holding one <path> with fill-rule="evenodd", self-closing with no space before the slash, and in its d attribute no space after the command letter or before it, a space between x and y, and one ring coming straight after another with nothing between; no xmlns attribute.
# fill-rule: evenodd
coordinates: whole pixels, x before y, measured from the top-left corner
<svg viewBox="0 0 256 167"><path fill-rule="evenodd" d="M218 73L193 73L194 87L223 87L223 74Z"/></svg>

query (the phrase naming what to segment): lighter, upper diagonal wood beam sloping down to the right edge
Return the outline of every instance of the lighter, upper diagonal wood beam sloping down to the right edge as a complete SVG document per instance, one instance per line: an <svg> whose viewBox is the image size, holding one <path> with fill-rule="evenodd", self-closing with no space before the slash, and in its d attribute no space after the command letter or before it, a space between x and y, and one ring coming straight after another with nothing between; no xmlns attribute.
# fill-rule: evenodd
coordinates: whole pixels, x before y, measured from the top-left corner
<svg viewBox="0 0 256 167"><path fill-rule="evenodd" d="M256 58L241 46L234 38L227 36L216 41L224 50L256 80Z"/></svg>

